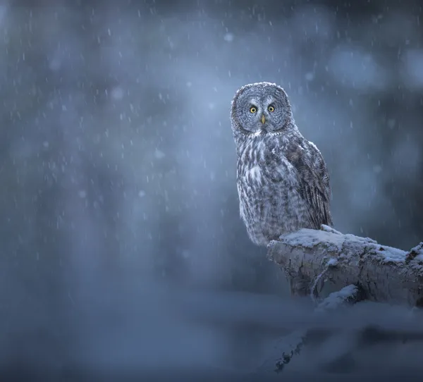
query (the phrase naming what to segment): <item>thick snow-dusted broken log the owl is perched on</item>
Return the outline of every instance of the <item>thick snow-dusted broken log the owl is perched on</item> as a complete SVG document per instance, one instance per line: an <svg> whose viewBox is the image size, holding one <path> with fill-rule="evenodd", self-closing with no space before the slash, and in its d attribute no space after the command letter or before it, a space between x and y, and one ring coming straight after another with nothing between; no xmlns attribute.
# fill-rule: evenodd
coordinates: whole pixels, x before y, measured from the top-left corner
<svg viewBox="0 0 423 382"><path fill-rule="evenodd" d="M405 252L322 226L281 236L267 254L285 271L293 294L325 297L352 284L366 300L423 305L423 242ZM331 288L325 292L322 284Z"/></svg>

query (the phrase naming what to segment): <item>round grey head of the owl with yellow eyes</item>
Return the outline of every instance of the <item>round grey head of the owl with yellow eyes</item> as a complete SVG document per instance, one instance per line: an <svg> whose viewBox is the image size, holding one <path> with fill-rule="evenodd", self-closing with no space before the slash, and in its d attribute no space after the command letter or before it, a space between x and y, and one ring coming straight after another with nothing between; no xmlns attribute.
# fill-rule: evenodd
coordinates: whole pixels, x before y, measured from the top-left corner
<svg viewBox="0 0 423 382"><path fill-rule="evenodd" d="M271 82L245 85L233 97L231 121L234 133L283 133L293 122L288 95Z"/></svg>

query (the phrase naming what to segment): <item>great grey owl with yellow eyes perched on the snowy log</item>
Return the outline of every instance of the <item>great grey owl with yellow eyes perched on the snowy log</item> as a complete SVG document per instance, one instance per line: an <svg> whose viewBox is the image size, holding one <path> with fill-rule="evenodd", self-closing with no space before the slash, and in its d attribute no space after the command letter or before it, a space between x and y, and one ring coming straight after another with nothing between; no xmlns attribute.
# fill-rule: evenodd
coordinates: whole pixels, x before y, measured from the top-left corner
<svg viewBox="0 0 423 382"><path fill-rule="evenodd" d="M231 125L240 216L252 242L267 245L300 228L331 226L326 164L295 125L286 92L270 82L241 87Z"/></svg>

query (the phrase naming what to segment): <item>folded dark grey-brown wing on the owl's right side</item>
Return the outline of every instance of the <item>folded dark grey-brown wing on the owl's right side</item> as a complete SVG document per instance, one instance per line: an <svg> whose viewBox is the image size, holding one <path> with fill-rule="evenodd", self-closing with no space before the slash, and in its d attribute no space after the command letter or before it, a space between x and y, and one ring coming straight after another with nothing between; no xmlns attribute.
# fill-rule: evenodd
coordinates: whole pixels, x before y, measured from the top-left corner
<svg viewBox="0 0 423 382"><path fill-rule="evenodd" d="M286 159L298 171L300 195L309 204L310 220L315 229L321 224L332 226L329 171L319 149L306 140L291 142Z"/></svg>

